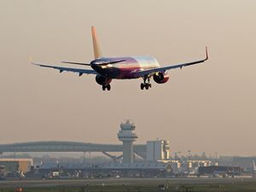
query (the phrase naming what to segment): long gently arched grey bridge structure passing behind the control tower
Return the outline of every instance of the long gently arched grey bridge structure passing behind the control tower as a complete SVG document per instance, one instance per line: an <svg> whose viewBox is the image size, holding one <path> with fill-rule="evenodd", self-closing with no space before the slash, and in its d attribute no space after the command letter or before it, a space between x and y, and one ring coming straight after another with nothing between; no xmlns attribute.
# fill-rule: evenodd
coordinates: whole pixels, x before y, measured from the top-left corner
<svg viewBox="0 0 256 192"><path fill-rule="evenodd" d="M147 147L145 144L134 145L134 153L146 158ZM123 152L123 145L120 144L98 144L79 142L30 142L0 144L0 154L6 152ZM111 157L112 155L108 155Z"/></svg>

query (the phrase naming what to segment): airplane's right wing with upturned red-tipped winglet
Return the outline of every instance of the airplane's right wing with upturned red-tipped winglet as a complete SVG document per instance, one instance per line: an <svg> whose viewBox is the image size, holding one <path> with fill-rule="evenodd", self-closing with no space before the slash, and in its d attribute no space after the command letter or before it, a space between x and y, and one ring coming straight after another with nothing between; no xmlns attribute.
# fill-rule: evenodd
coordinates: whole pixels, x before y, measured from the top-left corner
<svg viewBox="0 0 256 192"><path fill-rule="evenodd" d="M170 70L170 69L174 69L174 68L180 68L182 69L182 67L187 67L187 66L191 66L191 65L195 65L204 61L208 60L208 52L207 52L207 48L206 48L206 58L203 60L199 60L199 61L192 61L192 62L186 62L186 63L182 63L182 64L177 64L177 65L172 65L172 66L166 66L166 67L158 67L158 68L153 68L153 69L148 69L148 70L144 70L144 71L139 71L139 72L135 72L135 76L136 77L144 77L145 75L152 75L153 73L165 73L166 70Z"/></svg>

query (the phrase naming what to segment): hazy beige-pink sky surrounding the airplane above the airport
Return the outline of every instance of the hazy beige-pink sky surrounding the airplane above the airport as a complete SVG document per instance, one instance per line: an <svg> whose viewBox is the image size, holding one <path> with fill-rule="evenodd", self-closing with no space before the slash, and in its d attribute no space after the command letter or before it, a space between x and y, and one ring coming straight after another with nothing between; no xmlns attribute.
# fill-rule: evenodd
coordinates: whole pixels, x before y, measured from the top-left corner
<svg viewBox="0 0 256 192"><path fill-rule="evenodd" d="M256 155L256 1L0 1L0 143L119 143L123 119L138 141L170 140L172 152ZM90 26L105 56L153 55L166 84L113 80L35 67L93 59ZM62 65L65 66L65 65Z"/></svg>

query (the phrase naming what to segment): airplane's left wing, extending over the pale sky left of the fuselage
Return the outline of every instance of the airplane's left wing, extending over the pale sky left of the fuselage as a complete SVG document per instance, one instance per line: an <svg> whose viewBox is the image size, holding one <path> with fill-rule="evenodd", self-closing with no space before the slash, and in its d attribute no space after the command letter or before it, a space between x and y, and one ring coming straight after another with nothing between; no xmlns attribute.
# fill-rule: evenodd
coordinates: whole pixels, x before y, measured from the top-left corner
<svg viewBox="0 0 256 192"><path fill-rule="evenodd" d="M81 69L81 68L49 66L49 65L44 65L44 64L40 64L40 63L35 63L33 61L31 61L31 63L33 65L40 66L40 67L54 68L56 70L59 70L60 73L62 73L62 72L73 72L73 73L79 73L79 76L81 76L82 74L95 74L95 75L98 74L93 69Z"/></svg>

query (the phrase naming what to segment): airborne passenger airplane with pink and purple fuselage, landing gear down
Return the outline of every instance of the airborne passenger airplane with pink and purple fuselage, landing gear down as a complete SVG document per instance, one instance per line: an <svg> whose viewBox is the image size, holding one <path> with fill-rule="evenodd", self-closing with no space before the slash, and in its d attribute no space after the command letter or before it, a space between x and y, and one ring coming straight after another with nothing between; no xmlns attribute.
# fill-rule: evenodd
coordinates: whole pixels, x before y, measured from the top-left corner
<svg viewBox="0 0 256 192"><path fill-rule="evenodd" d="M148 90L151 88L150 79L153 78L157 84L164 84L168 81L169 75L166 71L170 69L180 68L202 63L208 60L208 52L206 47L206 58L199 61L191 61L187 63L160 67L158 61L148 55L141 56L125 56L125 57L104 57L102 55L98 38L96 36L96 28L91 26L92 42L95 60L90 63L61 61L62 63L89 66L88 68L73 68L73 67L58 67L52 65L45 65L32 61L33 65L40 67L49 67L62 72L78 73L79 76L83 74L96 75L96 83L102 85L102 90L110 90L110 83L112 79L143 79L141 90Z"/></svg>

